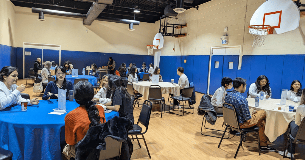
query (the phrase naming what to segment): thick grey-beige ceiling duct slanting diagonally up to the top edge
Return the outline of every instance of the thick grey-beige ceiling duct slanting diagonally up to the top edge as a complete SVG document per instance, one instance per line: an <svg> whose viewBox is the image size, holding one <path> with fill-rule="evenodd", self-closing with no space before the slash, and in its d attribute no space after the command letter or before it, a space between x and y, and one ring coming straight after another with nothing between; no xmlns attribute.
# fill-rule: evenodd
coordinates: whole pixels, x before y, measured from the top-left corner
<svg viewBox="0 0 305 160"><path fill-rule="evenodd" d="M97 0L96 2L93 2L87 15L86 19L83 20L83 25L90 26L91 23L101 14L101 12L105 9L107 6L106 4L111 5L113 0ZM99 4L103 3L103 4Z"/></svg>

